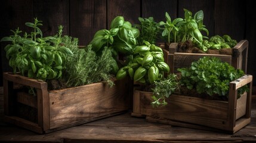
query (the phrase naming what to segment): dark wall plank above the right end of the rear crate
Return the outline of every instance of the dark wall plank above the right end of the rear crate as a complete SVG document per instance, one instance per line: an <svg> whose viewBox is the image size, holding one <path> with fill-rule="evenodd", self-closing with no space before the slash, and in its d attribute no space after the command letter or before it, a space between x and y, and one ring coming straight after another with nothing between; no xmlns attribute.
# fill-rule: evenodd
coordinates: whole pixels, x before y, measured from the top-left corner
<svg viewBox="0 0 256 143"><path fill-rule="evenodd" d="M230 35L240 41L245 37L246 2L216 0L214 6L214 35ZM239 29L239 30L238 30Z"/></svg>

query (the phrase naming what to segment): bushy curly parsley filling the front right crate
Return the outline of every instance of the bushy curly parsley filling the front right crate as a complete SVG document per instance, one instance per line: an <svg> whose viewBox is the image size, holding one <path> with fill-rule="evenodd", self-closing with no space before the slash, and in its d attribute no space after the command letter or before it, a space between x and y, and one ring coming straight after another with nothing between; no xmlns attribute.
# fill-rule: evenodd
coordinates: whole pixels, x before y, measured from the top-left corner
<svg viewBox="0 0 256 143"><path fill-rule="evenodd" d="M195 88L199 94L217 94L226 97L229 93L229 83L245 75L242 70L221 62L220 58L208 56L194 61L191 67L177 70L181 72L181 85L185 85L188 89ZM245 91L248 91L246 85L239 88L238 98Z"/></svg>

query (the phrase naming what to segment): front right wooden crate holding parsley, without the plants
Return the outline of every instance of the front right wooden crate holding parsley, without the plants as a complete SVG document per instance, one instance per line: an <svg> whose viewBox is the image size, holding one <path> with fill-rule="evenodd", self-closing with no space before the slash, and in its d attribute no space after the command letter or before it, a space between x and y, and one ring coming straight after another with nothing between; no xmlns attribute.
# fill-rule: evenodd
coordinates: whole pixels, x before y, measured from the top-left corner
<svg viewBox="0 0 256 143"><path fill-rule="evenodd" d="M250 90L237 99L243 85ZM149 122L235 133L251 122L252 76L230 82L229 88L229 101L171 95L168 104L159 108L152 107L152 92L135 90L132 116L146 116Z"/></svg>

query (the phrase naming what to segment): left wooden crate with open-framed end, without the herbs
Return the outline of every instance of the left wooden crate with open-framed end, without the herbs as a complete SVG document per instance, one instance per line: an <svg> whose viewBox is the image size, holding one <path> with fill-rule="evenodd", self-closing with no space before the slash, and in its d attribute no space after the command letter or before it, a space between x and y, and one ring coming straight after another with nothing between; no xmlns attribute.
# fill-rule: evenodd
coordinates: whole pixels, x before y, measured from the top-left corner
<svg viewBox="0 0 256 143"><path fill-rule="evenodd" d="M37 96L20 91L17 84L34 87ZM4 73L4 120L37 133L53 132L124 113L131 107L130 91L129 78L116 80L112 88L100 82L48 91L46 82ZM18 104L29 108L24 111L35 110L36 121L17 114Z"/></svg>

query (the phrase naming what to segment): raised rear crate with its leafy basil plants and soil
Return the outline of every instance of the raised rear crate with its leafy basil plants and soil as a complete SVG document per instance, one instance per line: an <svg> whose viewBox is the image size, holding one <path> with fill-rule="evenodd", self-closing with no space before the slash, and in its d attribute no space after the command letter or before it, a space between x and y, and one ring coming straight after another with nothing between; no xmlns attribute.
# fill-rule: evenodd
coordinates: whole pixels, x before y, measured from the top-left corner
<svg viewBox="0 0 256 143"><path fill-rule="evenodd" d="M160 22L164 26L162 38L165 43L159 43L159 46L164 48L165 62L168 63L171 73L177 73L178 68L188 67L203 56L219 57L246 73L248 41L236 42L229 35L208 38L208 29L203 25L203 11L193 15L191 11L183 10L184 18L171 20L169 14L165 13L166 22Z"/></svg>

